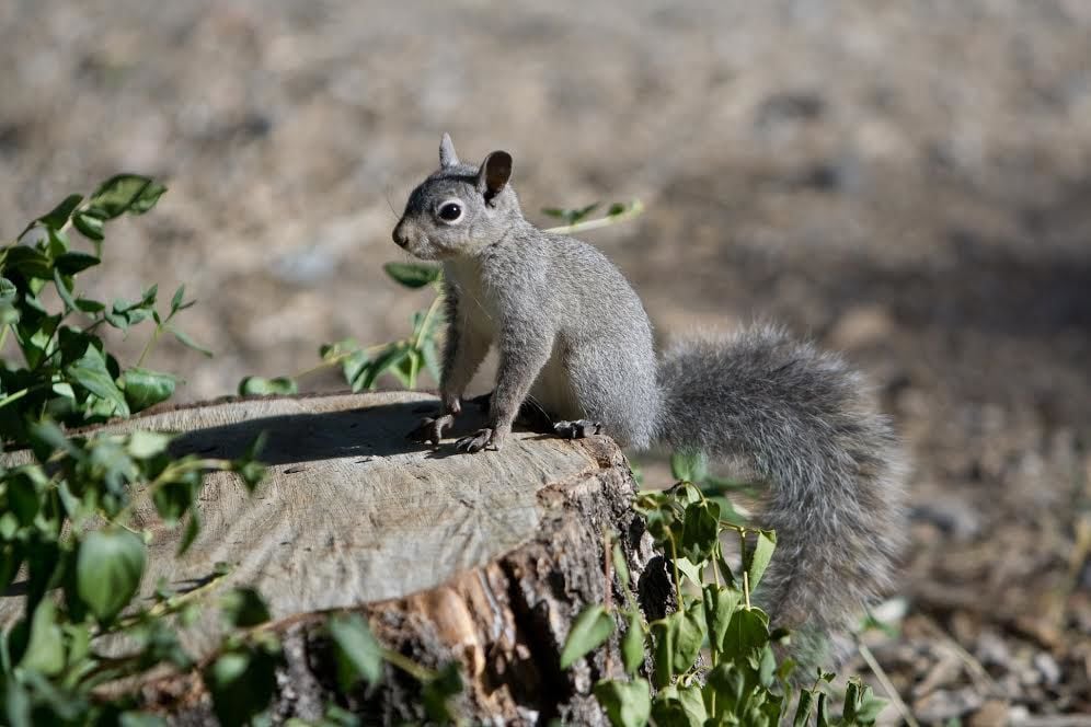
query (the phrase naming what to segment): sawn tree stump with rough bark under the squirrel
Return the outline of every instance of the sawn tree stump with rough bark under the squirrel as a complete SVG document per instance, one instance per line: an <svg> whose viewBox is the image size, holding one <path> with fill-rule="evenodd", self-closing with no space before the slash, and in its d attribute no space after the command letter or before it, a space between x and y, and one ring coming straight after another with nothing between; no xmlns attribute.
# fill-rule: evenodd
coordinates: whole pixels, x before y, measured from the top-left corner
<svg viewBox="0 0 1091 727"><path fill-rule="evenodd" d="M471 724L604 724L590 691L621 676L618 632L567 671L559 655L585 605L625 598L607 579L607 531L618 535L646 615L662 615L669 598L662 558L631 509L624 455L606 437L516 432L503 451L472 455L449 440L437 449L409 442L437 405L418 393L250 399L110 427L179 432L175 453L208 458L238 457L268 436L260 459L269 474L253 496L233 475L207 478L202 532L184 557L175 556L182 528L163 528L149 501L139 505L136 524L153 533L141 593L160 578L185 590L217 562L232 566L218 591L256 588L285 645L277 720L317 719L330 703L365 724L423 720L420 683L390 665L377 688L338 693L323 625L331 611L348 610L421 666L458 662L466 689L456 706ZM476 428L475 416L463 415L459 431ZM19 605L0 609L10 615ZM206 609L183 644L206 658L220 635L216 609ZM196 671L139 689L177 724L213 719Z"/></svg>

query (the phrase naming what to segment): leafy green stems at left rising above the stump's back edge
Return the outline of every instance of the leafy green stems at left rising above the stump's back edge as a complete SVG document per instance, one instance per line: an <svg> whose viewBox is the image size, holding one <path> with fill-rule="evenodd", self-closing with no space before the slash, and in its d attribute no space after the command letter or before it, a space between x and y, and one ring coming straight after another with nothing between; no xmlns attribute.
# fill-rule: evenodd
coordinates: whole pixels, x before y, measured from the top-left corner
<svg viewBox="0 0 1091 727"><path fill-rule="evenodd" d="M77 278L101 262L106 222L122 215L150 210L165 187L136 174L122 174L101 184L85 199L70 195L0 249L0 348L12 335L22 365L4 358L0 367L0 439L25 445L28 424L51 418L66 426L128 416L165 401L174 393L174 376L143 368L163 333L202 350L175 323L193 304L180 287L169 310L157 310L158 289L147 288L136 300L110 303L84 296ZM92 252L76 250L72 228ZM51 304L53 303L53 304ZM123 368L99 331L128 332L145 321L154 328L139 360Z"/></svg>

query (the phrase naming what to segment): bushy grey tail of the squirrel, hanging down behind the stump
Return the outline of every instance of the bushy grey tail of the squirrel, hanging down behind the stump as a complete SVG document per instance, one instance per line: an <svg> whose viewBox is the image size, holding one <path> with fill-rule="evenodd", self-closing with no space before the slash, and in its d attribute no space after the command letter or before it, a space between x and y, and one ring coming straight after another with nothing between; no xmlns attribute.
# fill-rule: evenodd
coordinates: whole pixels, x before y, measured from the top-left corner
<svg viewBox="0 0 1091 727"><path fill-rule="evenodd" d="M658 371L658 439L743 458L770 486L760 518L777 552L756 595L793 651L843 632L889 585L905 533L904 463L859 373L782 331L676 344Z"/></svg>

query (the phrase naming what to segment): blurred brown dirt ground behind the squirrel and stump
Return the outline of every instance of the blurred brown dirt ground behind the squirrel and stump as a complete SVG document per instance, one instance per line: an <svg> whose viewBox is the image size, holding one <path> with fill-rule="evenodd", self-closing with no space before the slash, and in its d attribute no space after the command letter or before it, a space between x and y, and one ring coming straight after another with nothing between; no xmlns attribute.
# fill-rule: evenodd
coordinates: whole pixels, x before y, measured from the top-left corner
<svg viewBox="0 0 1091 727"><path fill-rule="evenodd" d="M869 643L917 719L1089 725L1089 38L1087 0L0 0L0 236L164 177L92 291L187 284L217 357L154 362L195 400L404 334L380 264L441 131L528 210L640 197L587 239L664 336L781 321L896 417L908 615Z"/></svg>

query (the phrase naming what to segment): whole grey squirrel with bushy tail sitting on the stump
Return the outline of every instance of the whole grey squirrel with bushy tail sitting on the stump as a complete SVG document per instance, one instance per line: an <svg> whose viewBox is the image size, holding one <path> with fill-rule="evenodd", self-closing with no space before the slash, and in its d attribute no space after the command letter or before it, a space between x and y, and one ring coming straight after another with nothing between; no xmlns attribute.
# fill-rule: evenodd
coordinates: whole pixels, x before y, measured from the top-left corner
<svg viewBox="0 0 1091 727"><path fill-rule="evenodd" d="M758 601L779 625L802 628L797 656L828 646L889 586L904 535L901 448L860 374L765 325L678 342L656 358L647 313L618 268L524 218L510 154L462 163L444 135L439 164L393 231L410 254L443 263L447 307L441 409L410 437L439 445L495 346L489 426L460 450L499 449L531 401L562 437L602 431L636 450L661 442L745 461L769 485L760 524L778 535Z"/></svg>

